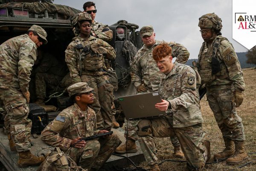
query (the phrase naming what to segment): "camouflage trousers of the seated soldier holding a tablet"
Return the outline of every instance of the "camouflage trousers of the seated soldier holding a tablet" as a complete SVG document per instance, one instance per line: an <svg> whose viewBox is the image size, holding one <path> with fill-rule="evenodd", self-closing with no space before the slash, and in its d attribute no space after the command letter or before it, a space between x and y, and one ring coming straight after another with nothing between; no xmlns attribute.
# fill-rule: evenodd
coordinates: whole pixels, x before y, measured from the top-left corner
<svg viewBox="0 0 256 171"><path fill-rule="evenodd" d="M109 159L111 154L119 146L120 140L116 134L109 135L106 138L98 140L88 140L84 147L69 148L66 154L76 162L77 165L84 169L91 168L98 170Z"/></svg>

